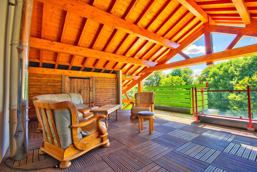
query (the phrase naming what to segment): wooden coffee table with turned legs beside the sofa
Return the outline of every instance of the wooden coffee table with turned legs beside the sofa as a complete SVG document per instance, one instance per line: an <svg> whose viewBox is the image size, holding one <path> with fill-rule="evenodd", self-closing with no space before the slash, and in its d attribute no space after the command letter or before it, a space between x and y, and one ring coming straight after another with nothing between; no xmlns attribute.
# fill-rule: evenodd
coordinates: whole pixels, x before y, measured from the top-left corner
<svg viewBox="0 0 257 172"><path fill-rule="evenodd" d="M97 115L97 113L104 113L106 115L105 118L105 126L106 128L108 127L107 124L107 115L108 115L108 120L110 119L110 113L116 110L116 120L118 120L118 108L121 107L121 105L104 105L95 109L92 109L89 112L93 112L94 116Z"/></svg>

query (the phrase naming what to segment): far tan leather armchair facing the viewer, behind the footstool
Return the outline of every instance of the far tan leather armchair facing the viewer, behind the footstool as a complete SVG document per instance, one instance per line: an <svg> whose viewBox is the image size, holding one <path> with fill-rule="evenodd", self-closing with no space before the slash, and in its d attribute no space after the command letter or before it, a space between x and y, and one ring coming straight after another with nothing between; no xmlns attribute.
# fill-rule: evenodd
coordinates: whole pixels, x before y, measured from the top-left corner
<svg viewBox="0 0 257 172"><path fill-rule="evenodd" d="M138 112L151 111L154 112L154 96L153 92L137 92L135 93L135 102L132 103L131 116L135 118Z"/></svg>

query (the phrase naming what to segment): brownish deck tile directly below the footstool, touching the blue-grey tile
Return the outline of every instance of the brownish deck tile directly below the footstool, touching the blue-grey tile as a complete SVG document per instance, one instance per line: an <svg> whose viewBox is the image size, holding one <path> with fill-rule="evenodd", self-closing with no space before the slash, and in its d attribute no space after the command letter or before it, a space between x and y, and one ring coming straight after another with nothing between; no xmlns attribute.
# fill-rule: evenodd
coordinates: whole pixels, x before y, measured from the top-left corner
<svg viewBox="0 0 257 172"><path fill-rule="evenodd" d="M147 141L147 142L138 144L132 147L132 149L134 149L135 151L137 151L138 153L140 153L141 155L145 156L146 158L152 161L155 161L161 158L162 156L166 155L170 151L172 151L172 149L162 146L153 141Z"/></svg>

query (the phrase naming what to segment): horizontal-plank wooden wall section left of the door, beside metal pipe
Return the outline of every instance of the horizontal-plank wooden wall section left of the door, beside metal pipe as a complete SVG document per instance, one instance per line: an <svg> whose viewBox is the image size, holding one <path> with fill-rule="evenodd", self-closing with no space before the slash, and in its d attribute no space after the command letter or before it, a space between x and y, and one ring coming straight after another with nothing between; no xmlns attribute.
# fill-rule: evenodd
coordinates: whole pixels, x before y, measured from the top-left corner
<svg viewBox="0 0 257 172"><path fill-rule="evenodd" d="M62 93L62 76L29 73L29 119L37 121L36 111L30 99L41 94Z"/></svg>

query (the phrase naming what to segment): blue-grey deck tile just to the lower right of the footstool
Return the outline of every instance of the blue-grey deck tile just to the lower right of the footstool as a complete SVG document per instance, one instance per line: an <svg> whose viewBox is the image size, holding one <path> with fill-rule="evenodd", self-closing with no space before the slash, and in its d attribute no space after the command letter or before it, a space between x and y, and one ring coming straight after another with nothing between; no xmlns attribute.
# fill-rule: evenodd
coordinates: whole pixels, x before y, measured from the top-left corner
<svg viewBox="0 0 257 172"><path fill-rule="evenodd" d="M187 142L186 140L168 134L163 134L157 138L152 139L152 141L166 146L170 149L176 149Z"/></svg>

